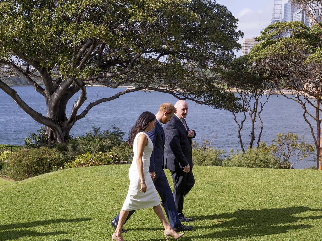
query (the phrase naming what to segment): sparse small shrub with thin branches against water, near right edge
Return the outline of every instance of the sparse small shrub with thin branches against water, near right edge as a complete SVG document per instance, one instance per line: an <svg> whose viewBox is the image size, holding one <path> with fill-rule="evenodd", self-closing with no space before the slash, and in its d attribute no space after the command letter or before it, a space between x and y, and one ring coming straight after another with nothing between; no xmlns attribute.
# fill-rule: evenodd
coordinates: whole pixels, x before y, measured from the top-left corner
<svg viewBox="0 0 322 241"><path fill-rule="evenodd" d="M315 151L315 146L304 141L302 136L299 140L298 135L287 132L286 134L278 133L276 139L269 146L272 152L281 158L281 164L285 167L291 167L293 164L308 158ZM296 158L295 163L291 163L291 159Z"/></svg>

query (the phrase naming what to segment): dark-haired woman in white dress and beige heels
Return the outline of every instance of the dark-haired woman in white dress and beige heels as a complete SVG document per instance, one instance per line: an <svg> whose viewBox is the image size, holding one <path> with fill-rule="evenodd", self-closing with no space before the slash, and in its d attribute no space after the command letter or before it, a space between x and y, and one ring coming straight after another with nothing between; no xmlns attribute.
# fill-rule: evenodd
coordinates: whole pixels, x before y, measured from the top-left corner
<svg viewBox="0 0 322 241"><path fill-rule="evenodd" d="M149 175L150 157L153 150L153 143L147 135L147 131L152 131L156 117L151 112L143 112L131 129L128 145L133 145L133 161L128 170L130 185L128 195L120 211L118 226L112 235L112 241L123 241L122 228L130 210L138 210L153 207L156 215L161 220L165 229L166 240L168 236L179 238L182 234L177 234L167 222L160 206L159 196L156 193L153 181Z"/></svg>

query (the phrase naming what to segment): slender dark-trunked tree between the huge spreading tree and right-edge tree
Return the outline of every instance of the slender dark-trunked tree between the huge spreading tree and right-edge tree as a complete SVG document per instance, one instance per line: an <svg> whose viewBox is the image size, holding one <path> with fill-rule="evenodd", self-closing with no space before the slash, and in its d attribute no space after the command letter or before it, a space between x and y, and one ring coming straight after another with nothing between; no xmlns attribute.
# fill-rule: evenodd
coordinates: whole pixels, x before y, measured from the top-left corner
<svg viewBox="0 0 322 241"><path fill-rule="evenodd" d="M260 114L271 94L275 92L274 83L266 75L267 71L256 62L248 61L249 57L247 55L236 58L218 76L222 85L226 86L226 93L228 95L236 93L239 99L238 104L229 102L227 106L238 126L238 138L243 152L245 152L245 148L242 129L247 116L251 121L251 138L248 147L252 148L256 138L255 122L256 120L260 121L260 131L257 136L257 145L259 146L263 131L263 121ZM238 120L237 117L239 112L242 113L241 120Z"/></svg>

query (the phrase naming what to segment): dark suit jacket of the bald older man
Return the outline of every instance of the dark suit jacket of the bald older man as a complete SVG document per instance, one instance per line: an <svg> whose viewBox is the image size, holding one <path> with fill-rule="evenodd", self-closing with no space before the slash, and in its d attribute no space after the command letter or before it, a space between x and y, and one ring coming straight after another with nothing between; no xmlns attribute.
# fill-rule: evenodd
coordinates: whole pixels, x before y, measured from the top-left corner
<svg viewBox="0 0 322 241"><path fill-rule="evenodd" d="M185 124L187 129L189 130L187 122L185 122ZM182 171L182 168L184 168L188 164L192 169L191 139L195 136L192 138L187 137L188 130L185 129L185 126L175 115L164 126L164 161L166 169L169 169L171 171Z"/></svg>

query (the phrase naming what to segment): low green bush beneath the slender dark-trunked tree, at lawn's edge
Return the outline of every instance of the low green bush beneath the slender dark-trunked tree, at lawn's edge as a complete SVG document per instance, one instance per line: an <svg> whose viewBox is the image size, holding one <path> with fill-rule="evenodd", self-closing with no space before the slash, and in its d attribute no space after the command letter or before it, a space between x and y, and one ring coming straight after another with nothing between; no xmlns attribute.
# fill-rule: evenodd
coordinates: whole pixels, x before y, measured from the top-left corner
<svg viewBox="0 0 322 241"><path fill-rule="evenodd" d="M254 147L245 151L230 151L230 157L223 160L223 166L236 167L257 167L257 168L290 168L282 166L280 159L272 155L271 150L266 144L262 143L259 147Z"/></svg>

